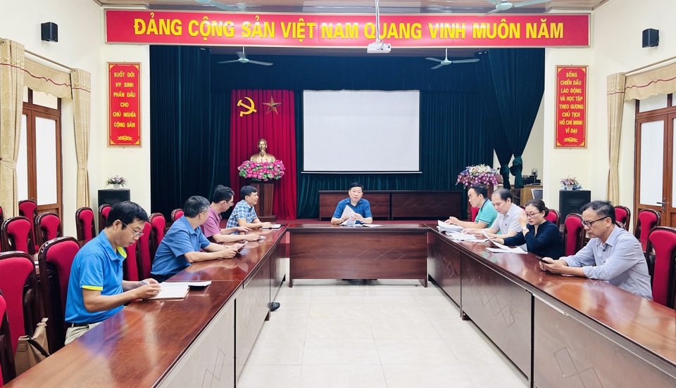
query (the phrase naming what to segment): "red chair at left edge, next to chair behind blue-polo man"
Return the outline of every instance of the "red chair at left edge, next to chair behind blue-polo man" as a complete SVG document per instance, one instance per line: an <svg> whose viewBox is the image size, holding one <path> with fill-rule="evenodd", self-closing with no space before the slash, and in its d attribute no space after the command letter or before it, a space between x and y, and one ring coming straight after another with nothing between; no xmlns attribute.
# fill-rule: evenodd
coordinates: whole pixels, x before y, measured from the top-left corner
<svg viewBox="0 0 676 388"><path fill-rule="evenodd" d="M38 300L35 264L31 255L11 251L0 253L0 290L7 302L12 351L22 335L32 335L37 324Z"/></svg>

